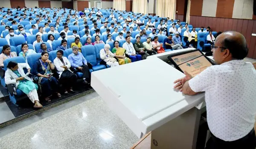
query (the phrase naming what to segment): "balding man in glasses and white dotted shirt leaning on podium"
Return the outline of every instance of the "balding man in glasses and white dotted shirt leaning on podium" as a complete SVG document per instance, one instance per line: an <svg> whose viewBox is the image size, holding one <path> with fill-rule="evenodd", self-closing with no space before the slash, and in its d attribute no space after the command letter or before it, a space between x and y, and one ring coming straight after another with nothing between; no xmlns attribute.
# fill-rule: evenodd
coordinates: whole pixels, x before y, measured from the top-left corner
<svg viewBox="0 0 256 149"><path fill-rule="evenodd" d="M256 70L244 62L248 49L238 32L220 34L212 45L214 66L176 80L186 95L205 92L211 138L206 149L255 149Z"/></svg>

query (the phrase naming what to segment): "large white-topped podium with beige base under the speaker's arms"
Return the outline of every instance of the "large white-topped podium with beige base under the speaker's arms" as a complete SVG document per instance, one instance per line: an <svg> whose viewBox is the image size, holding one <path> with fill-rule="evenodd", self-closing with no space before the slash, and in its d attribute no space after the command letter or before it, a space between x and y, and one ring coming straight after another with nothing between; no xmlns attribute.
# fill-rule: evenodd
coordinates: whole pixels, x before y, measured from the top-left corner
<svg viewBox="0 0 256 149"><path fill-rule="evenodd" d="M92 72L91 86L138 138L151 132L151 149L195 149L204 93L174 90L185 75L157 55Z"/></svg>

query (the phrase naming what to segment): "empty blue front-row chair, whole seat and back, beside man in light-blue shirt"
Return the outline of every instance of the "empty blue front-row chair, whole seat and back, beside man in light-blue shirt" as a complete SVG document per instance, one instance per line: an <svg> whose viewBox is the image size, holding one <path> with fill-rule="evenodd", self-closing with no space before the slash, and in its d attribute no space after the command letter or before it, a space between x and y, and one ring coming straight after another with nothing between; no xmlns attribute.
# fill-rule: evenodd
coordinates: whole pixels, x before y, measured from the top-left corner
<svg viewBox="0 0 256 149"><path fill-rule="evenodd" d="M96 59L96 52L93 45L82 46L82 54L87 62L93 65L93 71L105 69L105 65L98 65Z"/></svg>

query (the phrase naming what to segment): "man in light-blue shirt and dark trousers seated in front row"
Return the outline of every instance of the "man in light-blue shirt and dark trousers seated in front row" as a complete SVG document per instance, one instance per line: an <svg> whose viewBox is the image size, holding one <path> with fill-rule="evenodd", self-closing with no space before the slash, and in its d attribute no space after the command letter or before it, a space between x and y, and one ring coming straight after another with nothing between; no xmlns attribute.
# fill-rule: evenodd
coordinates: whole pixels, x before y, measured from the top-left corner
<svg viewBox="0 0 256 149"><path fill-rule="evenodd" d="M68 56L68 60L71 64L71 70L76 74L76 72L82 72L83 83L87 84L90 82L90 71L87 65L87 60L84 58L83 54L79 52L77 46L73 46L73 53Z"/></svg>

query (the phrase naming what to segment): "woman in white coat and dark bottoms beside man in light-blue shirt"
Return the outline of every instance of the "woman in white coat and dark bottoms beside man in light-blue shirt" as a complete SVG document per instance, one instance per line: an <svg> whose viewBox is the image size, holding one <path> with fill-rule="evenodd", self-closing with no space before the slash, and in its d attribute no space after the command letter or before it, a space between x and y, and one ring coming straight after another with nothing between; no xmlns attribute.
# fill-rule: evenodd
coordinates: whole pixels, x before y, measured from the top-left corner
<svg viewBox="0 0 256 149"><path fill-rule="evenodd" d="M67 57L63 56L63 51L57 51L57 57L53 60L53 64L56 67L59 74L59 83L63 85L65 89L65 94L68 92L74 92L72 87L76 83L77 77L76 74L71 72L71 64L68 61Z"/></svg>

